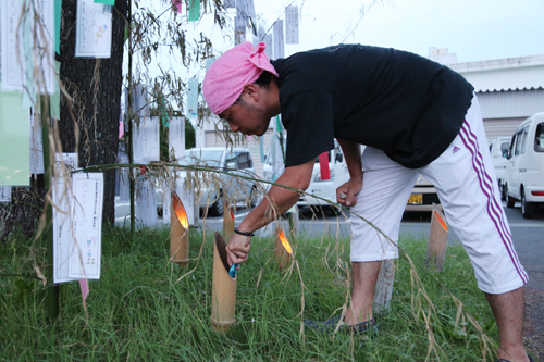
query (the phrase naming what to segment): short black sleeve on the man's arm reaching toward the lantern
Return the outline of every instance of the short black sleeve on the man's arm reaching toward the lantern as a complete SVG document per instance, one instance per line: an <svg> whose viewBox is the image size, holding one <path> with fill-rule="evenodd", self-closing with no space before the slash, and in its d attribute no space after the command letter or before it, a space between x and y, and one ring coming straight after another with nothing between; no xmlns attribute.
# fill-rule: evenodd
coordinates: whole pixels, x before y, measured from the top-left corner
<svg viewBox="0 0 544 362"><path fill-rule="evenodd" d="M282 103L287 130L285 166L306 163L334 148L333 97L329 92L301 92Z"/></svg>

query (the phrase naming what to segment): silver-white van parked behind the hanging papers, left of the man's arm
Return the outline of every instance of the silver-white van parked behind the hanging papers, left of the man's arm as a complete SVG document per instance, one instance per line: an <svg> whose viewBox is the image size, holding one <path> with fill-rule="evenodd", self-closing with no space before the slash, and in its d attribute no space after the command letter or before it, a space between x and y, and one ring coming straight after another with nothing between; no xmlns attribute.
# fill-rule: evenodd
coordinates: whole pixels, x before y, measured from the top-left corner
<svg viewBox="0 0 544 362"><path fill-rule="evenodd" d="M234 175L255 178L254 161L247 148L191 148L185 151L185 157L181 164L206 166L209 168L227 171ZM178 176L184 179L185 171L180 171ZM226 175L218 176L221 179L218 185L211 185L209 178L202 179L202 183L208 184L200 185L198 188L199 195L197 195L197 199L199 200L200 208L206 208L208 205L210 215L223 215L223 196L224 192L226 192L225 185L230 186L230 199L236 202L247 201L250 207L255 207L258 192L255 182ZM161 207L162 195L160 190L156 194L156 199L158 207Z"/></svg>

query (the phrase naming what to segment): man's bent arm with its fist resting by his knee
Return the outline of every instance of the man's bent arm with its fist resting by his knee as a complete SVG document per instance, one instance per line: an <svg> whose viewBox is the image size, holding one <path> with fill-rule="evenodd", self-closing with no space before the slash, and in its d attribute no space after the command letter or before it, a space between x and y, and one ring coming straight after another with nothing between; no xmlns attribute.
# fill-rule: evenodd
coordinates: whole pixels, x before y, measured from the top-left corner
<svg viewBox="0 0 544 362"><path fill-rule="evenodd" d="M349 180L336 189L336 201L346 207L354 207L357 204L356 195L362 188L361 146L343 139L338 139L338 143L344 152ZM341 194L346 197L341 197Z"/></svg>

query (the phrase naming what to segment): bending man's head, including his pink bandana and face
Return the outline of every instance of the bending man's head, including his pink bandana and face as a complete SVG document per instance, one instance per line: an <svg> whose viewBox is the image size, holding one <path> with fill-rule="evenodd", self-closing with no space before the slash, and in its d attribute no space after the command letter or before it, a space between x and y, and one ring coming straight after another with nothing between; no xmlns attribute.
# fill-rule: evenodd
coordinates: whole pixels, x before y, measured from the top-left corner
<svg viewBox="0 0 544 362"><path fill-rule="evenodd" d="M262 135L280 112L277 73L264 54L265 45L242 43L221 55L208 70L202 92L210 110L234 132Z"/></svg>

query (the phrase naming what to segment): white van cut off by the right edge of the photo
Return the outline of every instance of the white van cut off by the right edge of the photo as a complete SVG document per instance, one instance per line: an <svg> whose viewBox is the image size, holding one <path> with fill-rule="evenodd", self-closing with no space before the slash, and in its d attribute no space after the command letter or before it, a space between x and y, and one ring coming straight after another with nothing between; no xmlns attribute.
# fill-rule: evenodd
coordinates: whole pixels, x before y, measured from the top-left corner
<svg viewBox="0 0 544 362"><path fill-rule="evenodd" d="M544 204L544 112L523 121L511 138L506 166L506 205L521 201L521 214L533 216Z"/></svg>

